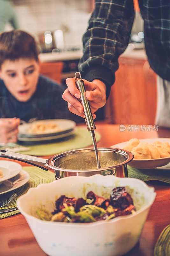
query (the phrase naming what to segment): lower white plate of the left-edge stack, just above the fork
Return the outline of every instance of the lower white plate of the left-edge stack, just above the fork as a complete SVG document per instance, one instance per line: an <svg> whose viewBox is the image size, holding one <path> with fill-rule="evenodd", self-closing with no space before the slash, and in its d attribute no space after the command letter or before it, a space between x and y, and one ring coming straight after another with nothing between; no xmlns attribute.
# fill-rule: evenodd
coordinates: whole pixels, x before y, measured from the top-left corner
<svg viewBox="0 0 170 256"><path fill-rule="evenodd" d="M11 178L10 180L5 180L0 185L0 195L7 193L9 191L12 191L16 188L20 188L29 179L30 179L30 175L27 172L25 172L24 170L21 170L17 176ZM13 185L9 181L11 181L13 183Z"/></svg>

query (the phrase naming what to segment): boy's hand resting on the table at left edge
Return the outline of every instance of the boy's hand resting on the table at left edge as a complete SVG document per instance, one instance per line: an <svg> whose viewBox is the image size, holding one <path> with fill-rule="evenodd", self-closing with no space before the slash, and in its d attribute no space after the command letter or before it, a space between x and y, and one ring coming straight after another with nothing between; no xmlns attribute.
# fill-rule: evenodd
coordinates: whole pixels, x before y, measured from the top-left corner
<svg viewBox="0 0 170 256"><path fill-rule="evenodd" d="M19 118L0 118L0 143L17 141Z"/></svg>

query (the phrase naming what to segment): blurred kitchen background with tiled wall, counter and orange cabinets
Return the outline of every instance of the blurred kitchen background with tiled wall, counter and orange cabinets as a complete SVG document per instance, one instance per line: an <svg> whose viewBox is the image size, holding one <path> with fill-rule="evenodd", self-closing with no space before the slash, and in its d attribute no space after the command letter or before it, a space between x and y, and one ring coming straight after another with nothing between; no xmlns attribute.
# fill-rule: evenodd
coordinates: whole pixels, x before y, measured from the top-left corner
<svg viewBox="0 0 170 256"><path fill-rule="evenodd" d="M3 1L13 5L18 28L31 33L39 41L41 73L66 86L67 77L74 77L77 71L82 56L82 35L95 1L0 0L0 4ZM96 112L96 120L118 124L154 123L156 102L150 99L150 93L156 99L156 78L145 54L143 20L137 0L134 0L134 7L135 20L129 45L119 57L116 82L106 106ZM13 28L10 21L4 30Z"/></svg>

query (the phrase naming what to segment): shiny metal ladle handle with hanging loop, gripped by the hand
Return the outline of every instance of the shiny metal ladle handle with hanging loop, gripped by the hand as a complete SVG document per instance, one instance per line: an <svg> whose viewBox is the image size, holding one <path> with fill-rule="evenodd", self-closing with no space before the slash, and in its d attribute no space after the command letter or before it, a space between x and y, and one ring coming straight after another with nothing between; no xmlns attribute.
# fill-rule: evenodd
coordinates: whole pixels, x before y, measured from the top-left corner
<svg viewBox="0 0 170 256"><path fill-rule="evenodd" d="M77 74L79 74L79 76L80 76L79 80L77 80L77 76L76 76ZM81 79L80 72L75 73L75 83L76 83L76 86L78 87L78 90L81 93L81 104L83 105L83 108L84 108L83 113L84 113L87 129L88 129L88 131L94 131L96 129L96 126L95 126L95 122L94 122L94 119L93 119L93 116L91 113L89 101L86 100L86 97L85 97L86 89L84 86L84 82Z"/></svg>

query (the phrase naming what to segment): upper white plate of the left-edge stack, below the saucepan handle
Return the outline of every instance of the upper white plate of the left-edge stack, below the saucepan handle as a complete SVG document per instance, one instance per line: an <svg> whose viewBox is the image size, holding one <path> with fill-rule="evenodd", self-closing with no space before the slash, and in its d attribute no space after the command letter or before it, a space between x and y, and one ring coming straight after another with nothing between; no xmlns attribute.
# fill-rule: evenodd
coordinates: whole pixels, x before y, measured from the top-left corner
<svg viewBox="0 0 170 256"><path fill-rule="evenodd" d="M4 177L0 179L0 184L4 180L9 180L16 176L22 169L22 166L12 161L0 160L0 170L3 172Z"/></svg>

